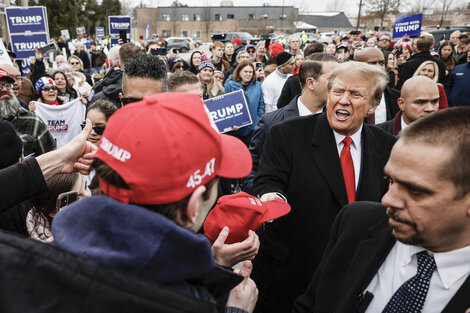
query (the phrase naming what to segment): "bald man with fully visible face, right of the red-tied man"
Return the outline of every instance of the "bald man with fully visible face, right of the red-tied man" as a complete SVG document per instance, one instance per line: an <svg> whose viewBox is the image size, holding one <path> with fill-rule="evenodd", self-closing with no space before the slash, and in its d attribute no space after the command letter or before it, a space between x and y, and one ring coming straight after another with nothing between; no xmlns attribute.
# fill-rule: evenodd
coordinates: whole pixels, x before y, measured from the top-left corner
<svg viewBox="0 0 470 313"><path fill-rule="evenodd" d="M377 125L394 136L417 119L439 110L437 84L425 76L408 79L401 89L398 106L400 111L393 120Z"/></svg>

